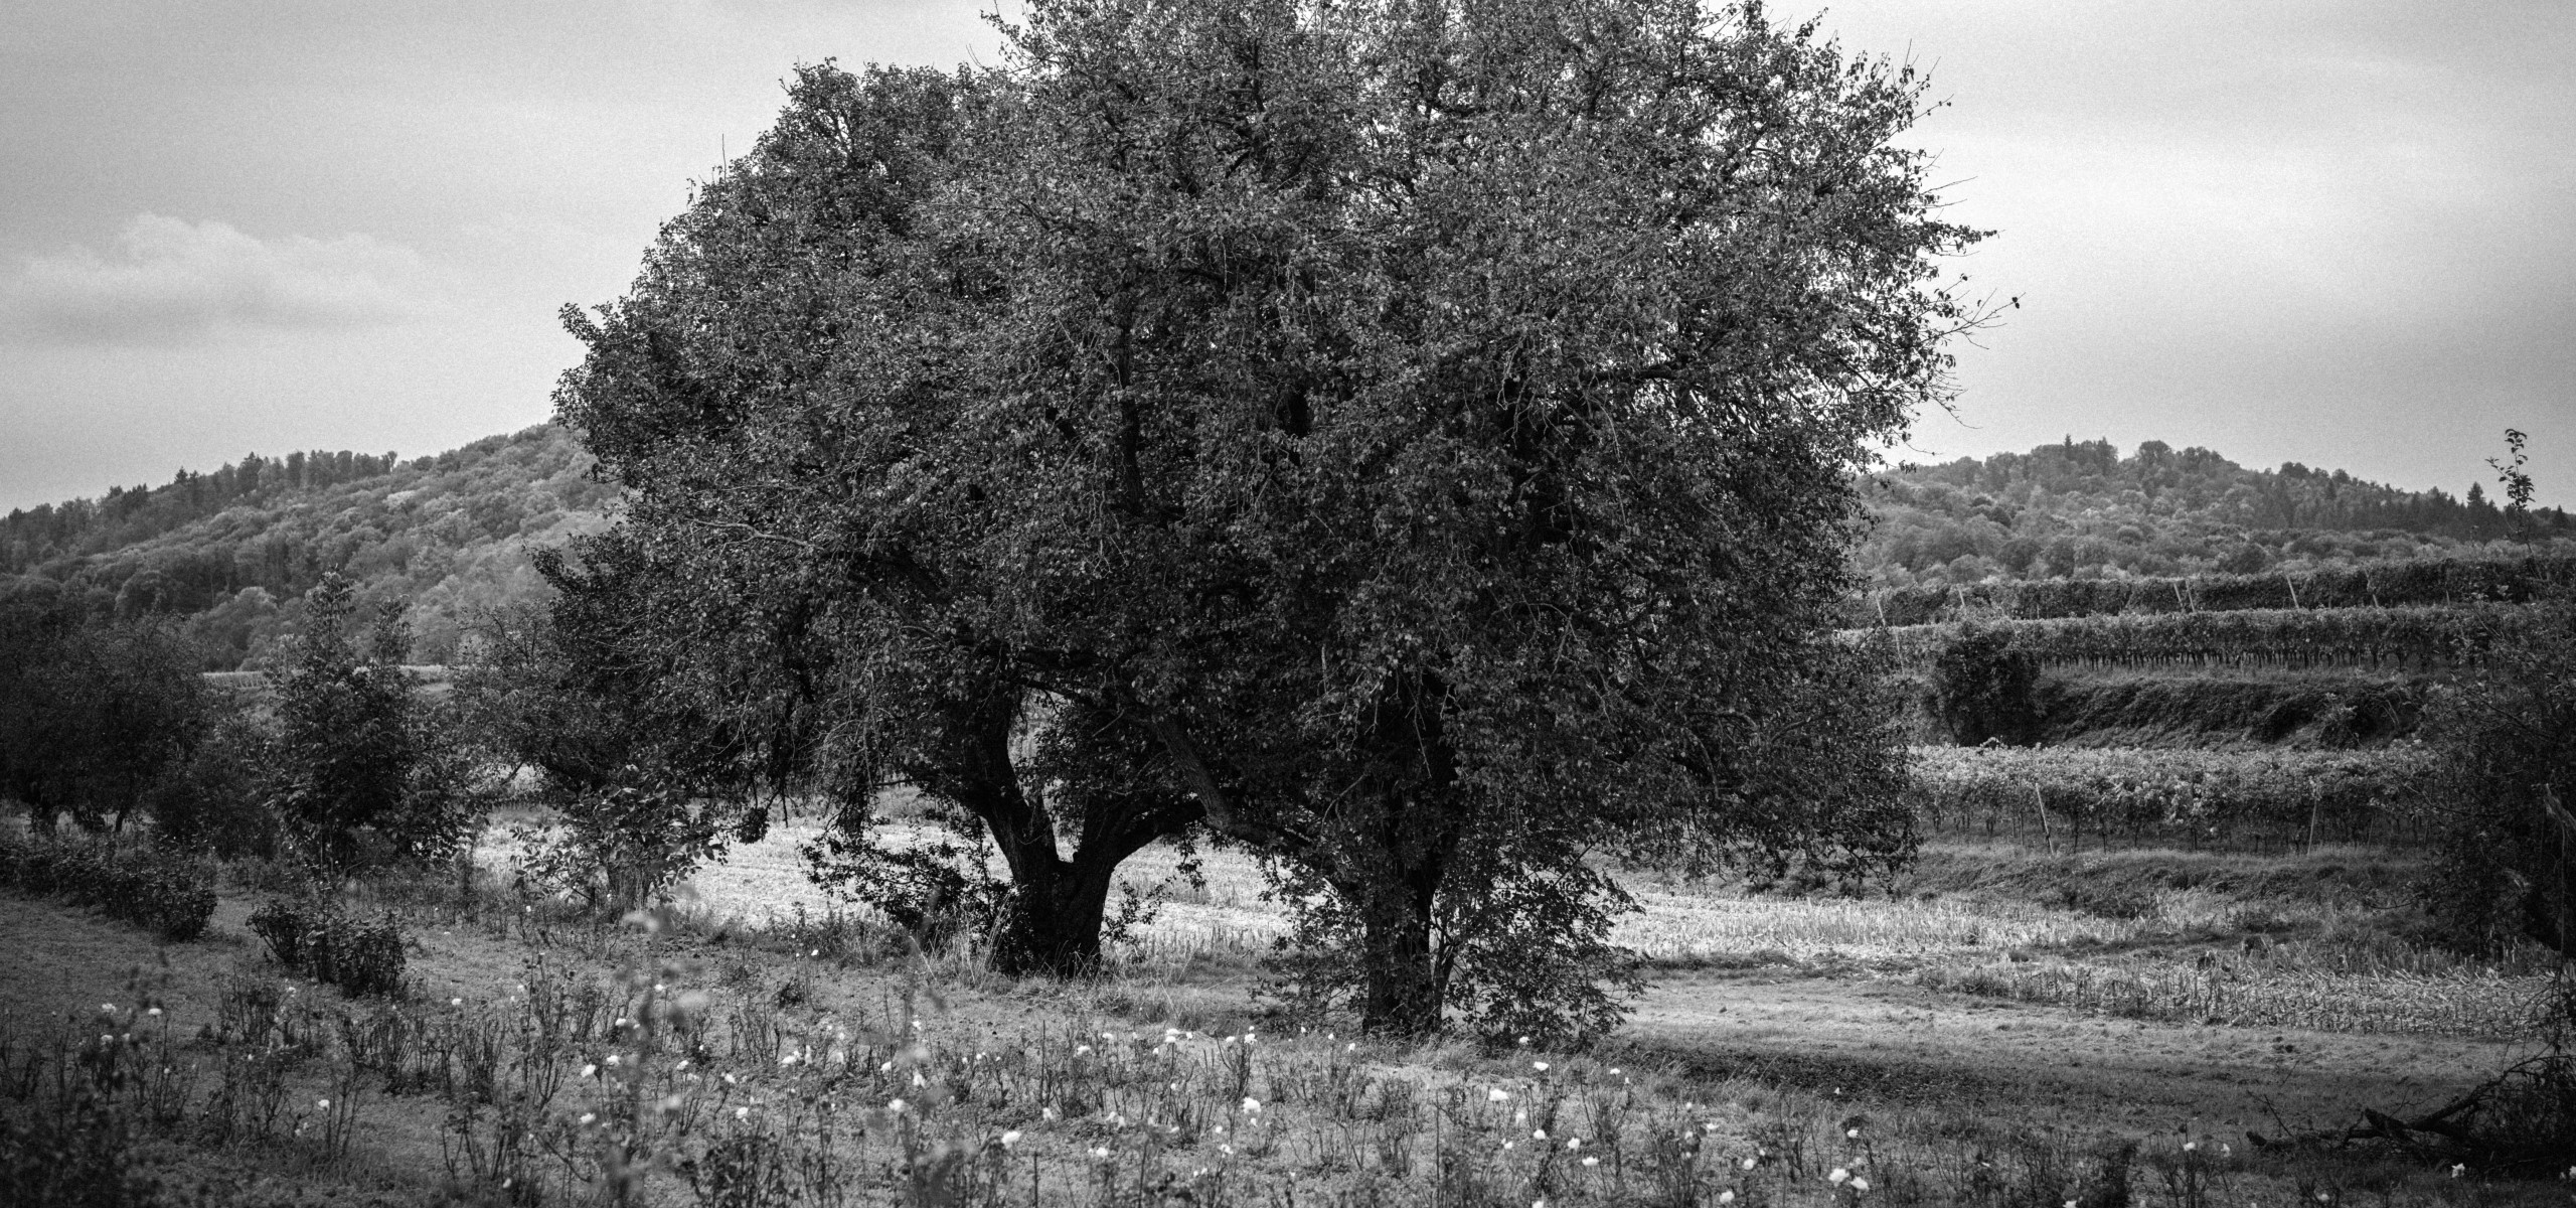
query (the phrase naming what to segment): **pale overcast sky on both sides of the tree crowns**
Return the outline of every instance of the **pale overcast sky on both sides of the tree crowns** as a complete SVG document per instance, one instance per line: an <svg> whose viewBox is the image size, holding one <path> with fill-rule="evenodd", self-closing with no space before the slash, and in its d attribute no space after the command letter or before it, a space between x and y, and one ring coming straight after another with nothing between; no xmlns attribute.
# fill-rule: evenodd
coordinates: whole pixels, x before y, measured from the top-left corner
<svg viewBox="0 0 2576 1208"><path fill-rule="evenodd" d="M994 59L976 0L18 0L0 507L549 415L796 62ZM2398 487L2532 433L2576 505L2576 3L1775 3L1932 67L1960 260L2020 296L1904 458L2063 435Z"/></svg>

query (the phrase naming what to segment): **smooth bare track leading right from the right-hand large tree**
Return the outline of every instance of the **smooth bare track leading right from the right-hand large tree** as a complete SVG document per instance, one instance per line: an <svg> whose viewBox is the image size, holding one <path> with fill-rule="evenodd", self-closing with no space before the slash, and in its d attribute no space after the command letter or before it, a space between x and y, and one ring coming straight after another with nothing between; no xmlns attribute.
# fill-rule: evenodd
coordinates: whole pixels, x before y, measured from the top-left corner
<svg viewBox="0 0 2576 1208"><path fill-rule="evenodd" d="M2218 1136L2439 1105L2514 1056L2491 1041L2110 1020L1795 974L1664 979L1623 1043L1703 1077L2141 1133L2197 1120Z"/></svg>

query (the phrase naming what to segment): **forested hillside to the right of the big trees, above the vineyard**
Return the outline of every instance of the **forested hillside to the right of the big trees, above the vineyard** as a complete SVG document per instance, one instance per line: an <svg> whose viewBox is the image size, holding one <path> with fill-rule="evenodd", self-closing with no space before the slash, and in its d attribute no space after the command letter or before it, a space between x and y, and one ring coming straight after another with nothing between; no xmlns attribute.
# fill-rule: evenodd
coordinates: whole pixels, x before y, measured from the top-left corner
<svg viewBox="0 0 2576 1208"><path fill-rule="evenodd" d="M2107 440L1906 466L1870 482L1870 587L2321 569L2372 559L2550 551L2576 520L2509 515L2486 487L2401 492L2344 471L2244 469L2161 440ZM2527 549L2530 543L2532 549Z"/></svg>

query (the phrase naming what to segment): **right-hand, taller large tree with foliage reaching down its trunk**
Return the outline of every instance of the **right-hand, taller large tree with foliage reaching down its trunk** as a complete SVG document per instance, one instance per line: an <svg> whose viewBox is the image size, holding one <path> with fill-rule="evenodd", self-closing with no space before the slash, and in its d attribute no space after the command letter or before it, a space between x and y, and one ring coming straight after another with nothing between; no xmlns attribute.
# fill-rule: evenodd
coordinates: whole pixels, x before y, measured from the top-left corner
<svg viewBox="0 0 2576 1208"><path fill-rule="evenodd" d="M1821 641L1973 322L1922 82L1759 8L1033 5L943 222L1007 307L997 628L1283 860L1370 1028L1615 1017L1589 855L1904 850Z"/></svg>

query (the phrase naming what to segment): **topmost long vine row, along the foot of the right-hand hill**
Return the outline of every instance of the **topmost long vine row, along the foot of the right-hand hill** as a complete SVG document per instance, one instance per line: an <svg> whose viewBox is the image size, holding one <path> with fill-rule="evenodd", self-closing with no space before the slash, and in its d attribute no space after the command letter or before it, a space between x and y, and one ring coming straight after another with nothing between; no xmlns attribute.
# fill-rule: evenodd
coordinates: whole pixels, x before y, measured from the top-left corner
<svg viewBox="0 0 2576 1208"><path fill-rule="evenodd" d="M2187 580L2030 580L1888 587L1844 608L1850 626L1922 626L1994 616L2048 621L2107 613L2239 613L2259 608L2429 608L2530 603L2576 582L2576 559L2406 559L2313 572Z"/></svg>

